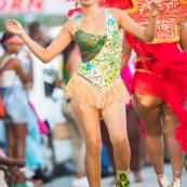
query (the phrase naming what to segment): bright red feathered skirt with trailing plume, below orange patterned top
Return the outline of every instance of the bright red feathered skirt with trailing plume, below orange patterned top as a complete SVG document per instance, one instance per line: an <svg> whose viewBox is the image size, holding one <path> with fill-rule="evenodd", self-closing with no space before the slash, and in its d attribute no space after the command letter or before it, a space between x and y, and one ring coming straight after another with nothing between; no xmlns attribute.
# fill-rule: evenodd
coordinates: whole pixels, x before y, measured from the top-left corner
<svg viewBox="0 0 187 187"><path fill-rule="evenodd" d="M181 52L178 42L137 44L126 37L139 62L133 77L133 92L162 98L176 115L178 125L175 139L187 152L187 51Z"/></svg>

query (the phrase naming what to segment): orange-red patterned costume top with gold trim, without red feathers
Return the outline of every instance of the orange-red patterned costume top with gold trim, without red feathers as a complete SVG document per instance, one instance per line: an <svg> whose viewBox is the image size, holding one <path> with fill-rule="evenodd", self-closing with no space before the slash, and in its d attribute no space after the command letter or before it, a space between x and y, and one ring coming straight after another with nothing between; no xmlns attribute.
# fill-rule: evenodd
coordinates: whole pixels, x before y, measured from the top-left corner
<svg viewBox="0 0 187 187"><path fill-rule="evenodd" d="M149 1L136 0L137 9L129 15L143 26L149 21ZM187 0L162 0L162 11L157 18L155 42L178 40L177 23L187 21Z"/></svg>

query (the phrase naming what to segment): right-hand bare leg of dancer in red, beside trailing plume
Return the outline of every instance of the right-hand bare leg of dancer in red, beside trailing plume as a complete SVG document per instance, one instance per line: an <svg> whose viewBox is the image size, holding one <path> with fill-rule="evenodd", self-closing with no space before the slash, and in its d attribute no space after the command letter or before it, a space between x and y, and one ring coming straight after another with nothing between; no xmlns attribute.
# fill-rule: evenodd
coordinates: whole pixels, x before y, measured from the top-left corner
<svg viewBox="0 0 187 187"><path fill-rule="evenodd" d="M162 119L164 134L171 157L173 178L175 181L182 177L185 156L179 151L179 145L175 141L175 126L177 125L176 116L171 111L170 107L166 106L166 104L162 105Z"/></svg>

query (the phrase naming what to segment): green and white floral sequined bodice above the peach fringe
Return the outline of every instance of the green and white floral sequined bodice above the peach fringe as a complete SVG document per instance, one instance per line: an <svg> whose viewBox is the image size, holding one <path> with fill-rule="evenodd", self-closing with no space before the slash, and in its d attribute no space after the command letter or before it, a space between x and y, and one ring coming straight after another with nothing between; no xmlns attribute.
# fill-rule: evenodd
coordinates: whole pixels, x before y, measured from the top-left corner
<svg viewBox="0 0 187 187"><path fill-rule="evenodd" d="M105 10L106 30L101 35L81 29L80 18L75 22L75 37L82 63L77 74L98 89L107 88L120 77L121 38L109 10Z"/></svg>

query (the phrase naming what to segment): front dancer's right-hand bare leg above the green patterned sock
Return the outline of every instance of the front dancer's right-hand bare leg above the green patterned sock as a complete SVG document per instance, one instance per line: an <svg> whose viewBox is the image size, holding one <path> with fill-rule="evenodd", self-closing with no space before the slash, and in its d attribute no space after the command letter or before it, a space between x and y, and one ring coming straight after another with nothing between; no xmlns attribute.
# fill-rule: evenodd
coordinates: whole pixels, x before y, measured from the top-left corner
<svg viewBox="0 0 187 187"><path fill-rule="evenodd" d="M126 134L125 106L113 103L102 110L102 117L107 125L109 137L113 146L116 169L130 170L130 145Z"/></svg>

